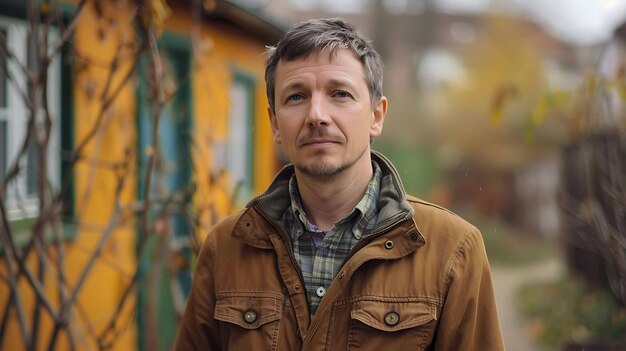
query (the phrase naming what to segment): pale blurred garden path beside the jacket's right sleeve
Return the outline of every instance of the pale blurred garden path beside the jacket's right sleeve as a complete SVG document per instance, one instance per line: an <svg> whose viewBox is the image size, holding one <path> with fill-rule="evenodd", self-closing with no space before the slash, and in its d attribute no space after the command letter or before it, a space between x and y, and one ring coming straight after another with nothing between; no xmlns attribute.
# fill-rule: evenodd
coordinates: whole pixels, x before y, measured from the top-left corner
<svg viewBox="0 0 626 351"><path fill-rule="evenodd" d="M516 295L526 283L555 280L563 271L563 263L554 258L524 267L492 266L491 270L507 351L536 351L524 332Z"/></svg>

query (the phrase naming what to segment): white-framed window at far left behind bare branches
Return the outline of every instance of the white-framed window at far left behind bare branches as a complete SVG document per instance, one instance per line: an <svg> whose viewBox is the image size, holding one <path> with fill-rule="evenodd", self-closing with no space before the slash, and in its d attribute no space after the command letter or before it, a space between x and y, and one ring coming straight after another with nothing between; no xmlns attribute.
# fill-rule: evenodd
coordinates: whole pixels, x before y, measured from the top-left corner
<svg viewBox="0 0 626 351"><path fill-rule="evenodd" d="M36 41L30 40L28 23L24 20L0 16L0 33L6 38L8 50L15 55L15 60L36 70ZM54 43L58 34L48 34L49 42ZM32 43L29 45L29 43ZM35 44L35 45L33 45ZM4 182L7 173L17 161L19 150L27 135L29 110L23 101L22 93L27 92L26 77L14 59L7 55L0 56L0 181ZM59 58L55 58L48 72L48 104L53 118L48 154L49 181L53 187L59 184L59 126L55 123L59 111ZM29 95L29 94L27 94ZM32 96L29 96L32 98ZM43 111L37 111L41 114ZM20 173L7 185L6 205L9 219L34 217L38 214L38 161L39 149L32 143L26 157L20 162Z"/></svg>

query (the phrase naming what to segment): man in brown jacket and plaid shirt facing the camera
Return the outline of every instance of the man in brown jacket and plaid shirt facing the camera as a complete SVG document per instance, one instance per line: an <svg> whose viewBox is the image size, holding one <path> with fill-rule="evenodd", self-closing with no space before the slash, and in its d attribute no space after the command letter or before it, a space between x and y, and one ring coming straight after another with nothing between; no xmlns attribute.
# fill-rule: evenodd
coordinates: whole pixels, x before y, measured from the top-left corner
<svg viewBox="0 0 626 351"><path fill-rule="evenodd" d="M479 231L370 149L388 105L370 42L303 22L265 78L291 164L208 234L176 349L504 349Z"/></svg>

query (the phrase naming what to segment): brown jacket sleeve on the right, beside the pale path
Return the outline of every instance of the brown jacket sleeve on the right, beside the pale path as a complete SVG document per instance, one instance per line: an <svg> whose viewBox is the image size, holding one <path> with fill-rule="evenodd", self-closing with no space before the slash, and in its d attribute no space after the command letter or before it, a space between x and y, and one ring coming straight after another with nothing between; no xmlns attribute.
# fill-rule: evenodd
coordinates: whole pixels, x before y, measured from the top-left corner
<svg viewBox="0 0 626 351"><path fill-rule="evenodd" d="M504 350L482 236L471 229L447 268L435 350Z"/></svg>

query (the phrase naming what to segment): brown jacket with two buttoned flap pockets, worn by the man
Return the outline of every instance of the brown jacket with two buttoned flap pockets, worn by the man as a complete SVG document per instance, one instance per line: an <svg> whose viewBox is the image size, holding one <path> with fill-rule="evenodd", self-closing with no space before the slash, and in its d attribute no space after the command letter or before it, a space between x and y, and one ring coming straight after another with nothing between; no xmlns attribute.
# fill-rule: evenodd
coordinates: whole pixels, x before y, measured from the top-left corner
<svg viewBox="0 0 626 351"><path fill-rule="evenodd" d="M175 349L504 350L480 232L405 197L393 167L372 157L387 171L382 187L405 198L394 211L406 215L357 244L312 320L290 239L261 199L207 236ZM279 188L264 195L272 205Z"/></svg>

